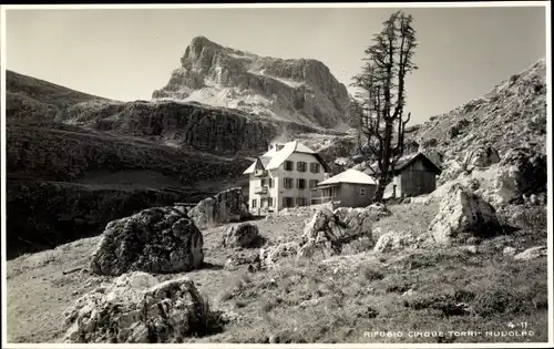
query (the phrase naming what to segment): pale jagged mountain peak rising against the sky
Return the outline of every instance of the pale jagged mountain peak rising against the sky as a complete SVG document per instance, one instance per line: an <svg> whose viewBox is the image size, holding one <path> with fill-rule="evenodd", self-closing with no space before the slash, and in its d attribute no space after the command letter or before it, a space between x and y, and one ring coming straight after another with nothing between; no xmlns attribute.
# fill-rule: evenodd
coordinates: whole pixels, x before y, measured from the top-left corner
<svg viewBox="0 0 554 349"><path fill-rule="evenodd" d="M345 123L349 94L317 60L283 60L194 38L170 82L153 99L196 101L309 126Z"/></svg>

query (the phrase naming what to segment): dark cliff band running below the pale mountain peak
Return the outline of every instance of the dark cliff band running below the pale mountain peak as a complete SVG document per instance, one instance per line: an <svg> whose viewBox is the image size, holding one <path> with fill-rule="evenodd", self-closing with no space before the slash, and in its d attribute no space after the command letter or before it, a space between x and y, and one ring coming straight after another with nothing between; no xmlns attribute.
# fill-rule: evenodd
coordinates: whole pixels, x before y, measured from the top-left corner
<svg viewBox="0 0 554 349"><path fill-rule="evenodd" d="M299 123L259 119L237 110L176 101L84 102L69 107L58 120L158 145L223 156L257 156L266 152L268 142L284 130L291 136L298 132L319 131Z"/></svg>

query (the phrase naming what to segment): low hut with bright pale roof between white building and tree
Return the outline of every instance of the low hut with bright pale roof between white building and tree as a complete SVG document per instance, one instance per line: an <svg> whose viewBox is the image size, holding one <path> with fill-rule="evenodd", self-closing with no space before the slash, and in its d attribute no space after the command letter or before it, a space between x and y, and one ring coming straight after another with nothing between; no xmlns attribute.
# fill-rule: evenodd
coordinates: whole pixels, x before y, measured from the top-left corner
<svg viewBox="0 0 554 349"><path fill-rule="evenodd" d="M365 207L371 204L377 182L361 171L347 170L311 191L311 204L332 203L332 207Z"/></svg>

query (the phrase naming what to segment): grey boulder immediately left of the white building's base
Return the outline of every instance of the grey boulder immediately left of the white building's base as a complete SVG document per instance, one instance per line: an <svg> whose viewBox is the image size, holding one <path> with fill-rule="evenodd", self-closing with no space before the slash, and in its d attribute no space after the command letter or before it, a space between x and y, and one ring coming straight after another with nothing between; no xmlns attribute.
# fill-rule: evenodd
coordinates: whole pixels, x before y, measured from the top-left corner
<svg viewBox="0 0 554 349"><path fill-rule="evenodd" d="M205 229L219 224L240 222L248 217L246 199L240 187L217 193L214 197L201 201L188 212L199 229Z"/></svg>

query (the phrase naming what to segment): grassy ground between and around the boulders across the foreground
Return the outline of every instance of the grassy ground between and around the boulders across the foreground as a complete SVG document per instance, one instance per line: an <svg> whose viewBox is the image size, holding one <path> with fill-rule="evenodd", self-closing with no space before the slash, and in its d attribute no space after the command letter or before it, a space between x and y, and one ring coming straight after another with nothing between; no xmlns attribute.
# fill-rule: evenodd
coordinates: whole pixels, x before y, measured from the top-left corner
<svg viewBox="0 0 554 349"><path fill-rule="evenodd" d="M392 206L394 215L376 224L381 230L420 234L438 207ZM542 209L542 208L541 208ZM236 252L219 246L225 227L204 232L209 267L188 273L212 307L232 318L223 333L197 342L499 342L547 340L546 258L529 263L502 256L546 239L545 212L529 212L526 229L479 245L478 254L458 248L403 250L373 255L361 250L325 261L281 260L280 267L247 274L224 269ZM270 244L301 234L309 213L254 222ZM8 263L8 338L52 342L63 336L61 312L79 295L106 278L63 270L86 266L98 238ZM160 276L160 279L176 275ZM403 296L412 289L413 295ZM471 311L454 315L464 301ZM529 324L533 337L409 338L408 331L507 330L509 321ZM370 338L366 331L404 331L401 338Z"/></svg>

